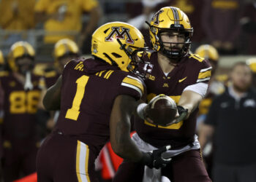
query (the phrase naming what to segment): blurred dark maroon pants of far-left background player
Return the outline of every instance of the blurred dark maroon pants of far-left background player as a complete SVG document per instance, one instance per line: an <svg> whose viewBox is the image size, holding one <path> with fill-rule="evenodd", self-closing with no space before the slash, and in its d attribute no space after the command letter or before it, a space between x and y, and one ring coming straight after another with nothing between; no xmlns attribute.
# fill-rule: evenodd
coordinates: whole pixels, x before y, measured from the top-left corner
<svg viewBox="0 0 256 182"><path fill-rule="evenodd" d="M8 143L5 144L2 158L4 182L17 180L36 171L36 141L29 138L4 143Z"/></svg>

